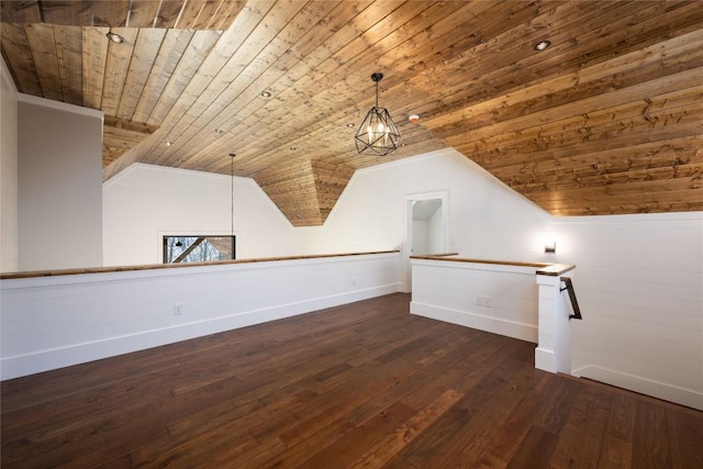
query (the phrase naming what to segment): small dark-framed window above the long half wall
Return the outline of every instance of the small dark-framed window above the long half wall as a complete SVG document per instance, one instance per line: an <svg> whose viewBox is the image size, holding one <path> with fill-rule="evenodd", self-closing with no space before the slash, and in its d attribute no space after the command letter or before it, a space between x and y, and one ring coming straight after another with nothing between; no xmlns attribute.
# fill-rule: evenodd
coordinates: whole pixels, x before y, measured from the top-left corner
<svg viewBox="0 0 703 469"><path fill-rule="evenodd" d="M164 236L164 264L236 259L235 236Z"/></svg>

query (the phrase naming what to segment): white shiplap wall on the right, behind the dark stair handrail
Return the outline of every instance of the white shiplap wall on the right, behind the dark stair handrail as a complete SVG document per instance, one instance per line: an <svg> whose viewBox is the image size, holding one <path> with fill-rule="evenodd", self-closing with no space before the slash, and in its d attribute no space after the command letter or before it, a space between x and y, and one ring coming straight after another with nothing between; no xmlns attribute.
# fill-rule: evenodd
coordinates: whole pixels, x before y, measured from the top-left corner
<svg viewBox="0 0 703 469"><path fill-rule="evenodd" d="M703 213L559 219L574 373L703 409Z"/></svg>

